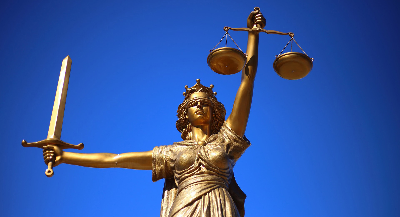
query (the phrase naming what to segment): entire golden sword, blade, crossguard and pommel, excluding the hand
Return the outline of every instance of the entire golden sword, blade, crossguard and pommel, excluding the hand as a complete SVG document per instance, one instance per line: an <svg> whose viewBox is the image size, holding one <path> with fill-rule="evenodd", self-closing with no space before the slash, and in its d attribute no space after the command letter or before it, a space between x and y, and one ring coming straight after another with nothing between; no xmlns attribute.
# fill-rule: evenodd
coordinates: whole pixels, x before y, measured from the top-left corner
<svg viewBox="0 0 400 217"><path fill-rule="evenodd" d="M72 65L72 60L68 55L62 61L60 79L58 79L56 99L54 99L53 113L51 115L50 127L47 139L31 143L22 140L22 146L43 148L44 146L47 145L54 145L58 146L58 148L61 149L75 148L79 150L84 148L83 143L80 143L78 145L73 145L63 142L61 140L62 120L64 119L65 102L67 99L68 82L70 80L71 65ZM53 172L54 160L55 158L53 158L47 164L48 166L48 169L46 170L47 177L52 177L54 175Z"/></svg>

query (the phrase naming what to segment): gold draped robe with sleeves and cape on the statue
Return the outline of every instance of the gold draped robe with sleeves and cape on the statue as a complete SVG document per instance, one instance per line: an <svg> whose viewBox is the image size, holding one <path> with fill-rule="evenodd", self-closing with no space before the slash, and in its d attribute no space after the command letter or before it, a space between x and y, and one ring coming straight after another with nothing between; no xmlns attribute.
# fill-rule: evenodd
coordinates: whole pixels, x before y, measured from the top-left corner
<svg viewBox="0 0 400 217"><path fill-rule="evenodd" d="M226 122L204 142L185 140L153 149L153 181L165 179L161 217L244 217L246 194L233 168L250 142Z"/></svg>

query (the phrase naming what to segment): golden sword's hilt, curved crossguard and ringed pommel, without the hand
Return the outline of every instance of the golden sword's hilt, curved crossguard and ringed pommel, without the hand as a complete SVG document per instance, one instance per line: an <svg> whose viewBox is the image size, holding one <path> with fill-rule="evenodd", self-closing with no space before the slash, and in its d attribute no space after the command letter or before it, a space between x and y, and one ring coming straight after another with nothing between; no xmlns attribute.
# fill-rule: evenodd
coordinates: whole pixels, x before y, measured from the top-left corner
<svg viewBox="0 0 400 217"><path fill-rule="evenodd" d="M47 138L47 139L39 141L39 142L30 142L30 143L26 142L25 140L22 140L22 146L24 146L24 147L36 147L36 148L44 149L44 146L47 146L47 145L58 146L58 148L60 148L62 150L67 149L67 148L74 148L74 149L82 150L84 148L83 143L80 143L78 145L73 145L73 144L66 143L57 138ZM54 158L47 164L47 167L48 167L46 170L47 177L52 177L54 175L53 163L54 163Z"/></svg>

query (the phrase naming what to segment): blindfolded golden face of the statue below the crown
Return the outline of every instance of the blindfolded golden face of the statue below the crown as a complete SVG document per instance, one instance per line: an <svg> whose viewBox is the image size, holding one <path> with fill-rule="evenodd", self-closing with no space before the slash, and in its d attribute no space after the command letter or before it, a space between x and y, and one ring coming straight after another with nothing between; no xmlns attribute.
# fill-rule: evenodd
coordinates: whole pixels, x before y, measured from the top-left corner
<svg viewBox="0 0 400 217"><path fill-rule="evenodd" d="M204 92L192 93L187 105L187 115L192 126L210 125L214 110L210 97Z"/></svg>

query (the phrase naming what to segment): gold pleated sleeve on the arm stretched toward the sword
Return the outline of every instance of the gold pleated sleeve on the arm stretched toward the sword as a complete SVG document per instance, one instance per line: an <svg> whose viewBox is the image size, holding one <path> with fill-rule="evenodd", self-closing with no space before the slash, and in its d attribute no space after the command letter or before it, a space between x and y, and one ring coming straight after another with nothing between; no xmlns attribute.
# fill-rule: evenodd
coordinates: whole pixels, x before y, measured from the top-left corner
<svg viewBox="0 0 400 217"><path fill-rule="evenodd" d="M153 149L153 181L174 177L176 151L179 145L156 146Z"/></svg>

